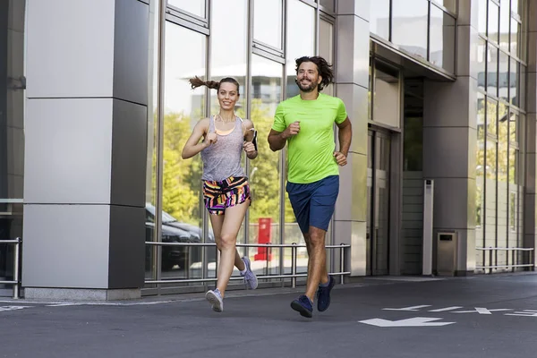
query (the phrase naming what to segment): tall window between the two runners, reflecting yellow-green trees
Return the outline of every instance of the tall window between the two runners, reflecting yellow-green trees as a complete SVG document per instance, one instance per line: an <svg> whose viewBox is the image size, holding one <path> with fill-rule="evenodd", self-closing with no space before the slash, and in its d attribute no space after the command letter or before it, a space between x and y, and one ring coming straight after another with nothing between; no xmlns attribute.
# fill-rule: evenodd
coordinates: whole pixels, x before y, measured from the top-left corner
<svg viewBox="0 0 537 358"><path fill-rule="evenodd" d="M277 104L282 99L282 65L260 55L252 55L251 85L251 120L260 132L262 140L259 141L259 156L251 161L248 174L252 196L250 242L268 239L271 243L280 243L281 152L270 150L265 138L272 127ZM260 240L261 225L265 225L268 232L264 232L265 237ZM297 238L292 234L286 234L286 242L298 243L295 240ZM258 253L262 254L264 251L261 249L258 249ZM277 259L276 254L277 252L273 252L272 260Z"/></svg>

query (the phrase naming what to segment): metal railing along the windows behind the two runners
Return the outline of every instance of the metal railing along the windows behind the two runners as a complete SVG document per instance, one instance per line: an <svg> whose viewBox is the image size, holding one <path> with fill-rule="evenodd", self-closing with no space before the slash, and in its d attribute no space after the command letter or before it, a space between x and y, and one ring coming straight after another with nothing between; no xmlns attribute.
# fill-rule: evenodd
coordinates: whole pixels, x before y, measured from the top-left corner
<svg viewBox="0 0 537 358"><path fill-rule="evenodd" d="M147 245L149 246L186 246L186 247L214 247L216 248L216 243L158 243L158 242L152 242L147 241ZM296 278L297 277L307 277L307 274L297 274L296 273L296 260L297 260L297 251L298 248L305 248L305 244L297 244L297 243L237 243L237 247L266 247L266 266L265 266L265 275L258 276L258 279L274 279L274 278L291 278L291 286L293 288L296 287ZM330 276L339 276L340 277L340 284L344 284L344 277L346 275L350 275L350 271L345 271L345 249L348 249L351 247L351 245L346 243L341 243L339 245L326 245L327 249L339 249L339 272L330 272L328 275ZM280 248L280 252L284 249L291 249L291 274L284 274L283 273L283 267L280 266L280 274L279 275L270 275L268 273L268 263L270 262L269 257L270 253L273 248ZM186 268L188 269L188 268ZM215 272L218 271L218 255L215 265ZM243 277L230 277L231 280L243 280ZM145 280L146 285L156 285L156 284L186 284L186 283L205 283L205 282L215 282L217 281L217 277L202 277L202 278L178 278L178 279L149 279Z"/></svg>

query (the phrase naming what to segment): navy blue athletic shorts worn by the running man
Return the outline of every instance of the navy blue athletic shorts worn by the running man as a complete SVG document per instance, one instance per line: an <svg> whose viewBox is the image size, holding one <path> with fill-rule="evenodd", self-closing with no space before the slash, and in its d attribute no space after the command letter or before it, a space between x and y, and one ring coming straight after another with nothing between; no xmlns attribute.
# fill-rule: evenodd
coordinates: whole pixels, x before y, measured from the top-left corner
<svg viewBox="0 0 537 358"><path fill-rule="evenodd" d="M339 193L339 175L330 175L307 184L287 182L286 191L294 217L304 234L310 231L310 226L328 230Z"/></svg>

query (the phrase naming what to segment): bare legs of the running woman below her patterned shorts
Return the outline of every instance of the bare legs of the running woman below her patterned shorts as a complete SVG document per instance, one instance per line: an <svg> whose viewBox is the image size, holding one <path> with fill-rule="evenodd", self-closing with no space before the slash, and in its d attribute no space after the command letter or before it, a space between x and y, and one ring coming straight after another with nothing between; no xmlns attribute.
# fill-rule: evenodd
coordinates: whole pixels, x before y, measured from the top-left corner
<svg viewBox="0 0 537 358"><path fill-rule="evenodd" d="M224 222L220 232L220 243L218 244L218 249L220 250L220 263L218 265L217 280L217 289L222 296L224 296L226 291L229 277L231 277L231 274L233 273L233 267L236 266L241 270L244 269L243 260L241 260L235 244L237 242L237 234L241 229L241 224L243 224L244 215L246 214L249 204L250 201L246 200L242 204L227 208L226 214L224 215ZM213 230L215 230L214 226Z"/></svg>

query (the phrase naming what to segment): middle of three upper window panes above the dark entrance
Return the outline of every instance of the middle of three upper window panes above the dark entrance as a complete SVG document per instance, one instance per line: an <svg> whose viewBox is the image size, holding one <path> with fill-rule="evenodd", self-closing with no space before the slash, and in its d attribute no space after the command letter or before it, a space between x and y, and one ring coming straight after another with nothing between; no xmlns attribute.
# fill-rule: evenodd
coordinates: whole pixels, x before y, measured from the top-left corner
<svg viewBox="0 0 537 358"><path fill-rule="evenodd" d="M392 4L392 42L405 51L427 58L427 0L396 1Z"/></svg>

